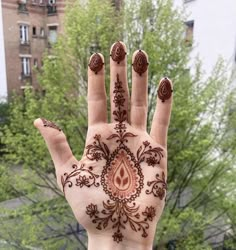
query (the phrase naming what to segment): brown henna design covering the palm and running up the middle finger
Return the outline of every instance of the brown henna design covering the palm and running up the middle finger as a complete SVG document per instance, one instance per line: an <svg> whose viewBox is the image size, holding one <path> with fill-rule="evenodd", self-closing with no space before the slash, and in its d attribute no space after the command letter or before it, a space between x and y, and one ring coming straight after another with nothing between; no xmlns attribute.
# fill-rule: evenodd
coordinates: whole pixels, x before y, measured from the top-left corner
<svg viewBox="0 0 236 250"><path fill-rule="evenodd" d="M98 210L97 204L90 203L86 207L86 214L92 219L92 223L96 224L98 230L111 225L115 230L112 237L117 243L123 240L123 231L128 226L134 232L141 232L142 237L148 236L149 222L156 216L156 210L153 206L146 206L145 210L142 211L135 202L144 188L141 163L146 162L148 166L156 167L164 157L163 149L152 147L148 141L143 142L136 154L131 152L127 146L129 139L137 137L137 135L127 131L127 112L123 108L124 92L122 82L117 74L113 91L113 102L116 108L113 115L116 123L114 133L106 138L107 141L115 140L116 149L110 152L107 144L102 141L100 134L96 134L93 143L86 146L85 155L87 159L96 162L105 160L106 164L103 166L101 176L92 172L93 167L85 168L85 165L80 167L73 165L74 170L61 177L63 190L66 186L73 186L71 178L74 176L78 176L75 179L75 186L80 188L92 185L98 187L99 183L96 180L100 177L100 184L109 199L103 201L101 210ZM82 173L83 176L81 176ZM151 190L146 190L145 193L153 194L162 200L166 190L165 176L163 173L163 180L158 178L158 174L156 177L157 180L147 183ZM159 184L163 185L162 189L160 189ZM160 190L164 190L164 193L161 193Z"/></svg>

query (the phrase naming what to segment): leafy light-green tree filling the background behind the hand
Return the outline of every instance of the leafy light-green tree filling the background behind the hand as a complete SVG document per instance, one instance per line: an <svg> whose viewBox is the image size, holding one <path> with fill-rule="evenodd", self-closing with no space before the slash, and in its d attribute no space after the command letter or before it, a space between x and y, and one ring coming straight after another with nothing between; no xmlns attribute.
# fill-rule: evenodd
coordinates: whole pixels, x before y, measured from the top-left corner
<svg viewBox="0 0 236 250"><path fill-rule="evenodd" d="M87 127L89 55L99 50L107 61L110 45L121 39L127 44L129 61L137 48L149 55L148 122L155 107L158 80L164 75L174 82L168 139L169 191L157 227L157 249L211 249L209 242L215 234L229 230L232 237L226 243L234 244L236 119L231 107L235 107L235 93L229 87L231 79L223 61L209 77L202 75L201 63L196 61L190 74L187 62L191 48L183 40L185 17L171 0L130 0L120 12L109 1L104 1L102 8L98 0L82 2L68 2L65 33L46 53L39 72L41 91L29 88L24 97L12 97L9 124L2 128L1 140L7 145L4 166L10 171L8 185L19 196L27 196L30 204L5 212L1 237L18 248L75 249L78 244L79 249L85 248L32 121L38 116L57 121L79 158ZM106 80L108 83L109 77ZM23 166L21 178L13 178L14 169L9 167L16 164ZM16 222L24 222L24 227ZM208 235L219 223L220 230Z"/></svg>

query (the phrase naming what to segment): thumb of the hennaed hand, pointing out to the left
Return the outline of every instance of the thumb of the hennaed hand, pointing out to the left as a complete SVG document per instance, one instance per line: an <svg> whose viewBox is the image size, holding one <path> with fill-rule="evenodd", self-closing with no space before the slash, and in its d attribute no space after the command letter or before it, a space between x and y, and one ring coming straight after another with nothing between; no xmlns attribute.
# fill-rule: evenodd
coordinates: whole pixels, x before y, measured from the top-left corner
<svg viewBox="0 0 236 250"><path fill-rule="evenodd" d="M55 168L65 167L74 156L62 130L55 123L44 118L36 119L34 126L43 136Z"/></svg>

